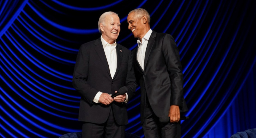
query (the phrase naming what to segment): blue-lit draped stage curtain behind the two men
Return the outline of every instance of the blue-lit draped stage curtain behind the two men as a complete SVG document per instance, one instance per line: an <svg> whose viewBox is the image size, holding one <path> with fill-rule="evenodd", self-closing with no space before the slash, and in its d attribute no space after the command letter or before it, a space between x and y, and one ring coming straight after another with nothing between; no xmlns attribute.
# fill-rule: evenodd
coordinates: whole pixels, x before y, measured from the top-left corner
<svg viewBox="0 0 256 138"><path fill-rule="evenodd" d="M145 8L151 28L180 50L189 111L183 138L228 138L256 128L255 0L1 0L0 137L56 138L81 131L71 84L78 48L97 39L99 16L118 13L117 42L134 49L127 14ZM140 90L126 132L144 137Z"/></svg>

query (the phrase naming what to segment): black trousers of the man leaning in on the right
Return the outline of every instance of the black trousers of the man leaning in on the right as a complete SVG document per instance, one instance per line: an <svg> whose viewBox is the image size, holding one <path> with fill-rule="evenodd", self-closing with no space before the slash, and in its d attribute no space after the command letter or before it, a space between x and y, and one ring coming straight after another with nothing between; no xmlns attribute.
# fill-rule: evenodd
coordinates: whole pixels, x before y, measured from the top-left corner
<svg viewBox="0 0 256 138"><path fill-rule="evenodd" d="M159 117L153 112L147 97L142 128L145 138L181 138L181 122L159 122Z"/></svg>

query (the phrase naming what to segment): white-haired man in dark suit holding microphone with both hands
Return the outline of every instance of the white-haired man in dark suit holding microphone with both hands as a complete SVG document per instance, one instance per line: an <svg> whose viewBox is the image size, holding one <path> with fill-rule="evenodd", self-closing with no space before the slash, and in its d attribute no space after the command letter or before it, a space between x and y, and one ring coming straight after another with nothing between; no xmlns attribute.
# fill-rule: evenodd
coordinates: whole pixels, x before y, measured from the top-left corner
<svg viewBox="0 0 256 138"><path fill-rule="evenodd" d="M101 37L80 46L73 72L73 87L81 95L82 137L124 138L126 103L137 87L132 53L116 42L120 33L116 13L103 13L98 28Z"/></svg>

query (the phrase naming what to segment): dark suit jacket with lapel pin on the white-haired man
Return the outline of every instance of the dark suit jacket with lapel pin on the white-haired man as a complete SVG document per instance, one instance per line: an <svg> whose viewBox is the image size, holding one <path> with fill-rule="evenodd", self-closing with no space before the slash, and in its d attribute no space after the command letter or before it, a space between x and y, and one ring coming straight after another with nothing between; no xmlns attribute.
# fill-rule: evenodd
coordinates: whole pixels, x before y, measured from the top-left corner
<svg viewBox="0 0 256 138"><path fill-rule="evenodd" d="M113 95L123 86L128 88L128 99L134 95L137 84L132 53L129 49L117 44L116 54L117 68L112 79L101 39L98 38L81 45L77 54L72 81L73 87L81 94L79 121L104 123L112 105L117 124L128 123L124 103L114 101L111 105L103 105L93 102L98 91Z"/></svg>

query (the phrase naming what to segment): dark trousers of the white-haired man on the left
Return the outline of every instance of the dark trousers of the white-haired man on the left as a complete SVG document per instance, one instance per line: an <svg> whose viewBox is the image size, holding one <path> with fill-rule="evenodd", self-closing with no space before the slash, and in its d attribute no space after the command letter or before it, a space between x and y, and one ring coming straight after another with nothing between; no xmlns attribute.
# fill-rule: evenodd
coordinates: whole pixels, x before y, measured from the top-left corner
<svg viewBox="0 0 256 138"><path fill-rule="evenodd" d="M83 123L82 138L124 138L125 125L118 125L111 107L108 119L103 124Z"/></svg>

